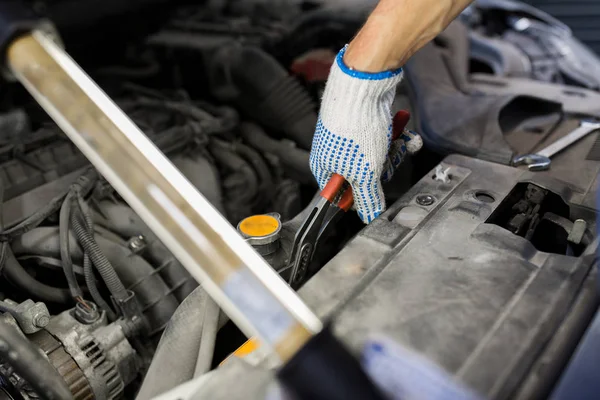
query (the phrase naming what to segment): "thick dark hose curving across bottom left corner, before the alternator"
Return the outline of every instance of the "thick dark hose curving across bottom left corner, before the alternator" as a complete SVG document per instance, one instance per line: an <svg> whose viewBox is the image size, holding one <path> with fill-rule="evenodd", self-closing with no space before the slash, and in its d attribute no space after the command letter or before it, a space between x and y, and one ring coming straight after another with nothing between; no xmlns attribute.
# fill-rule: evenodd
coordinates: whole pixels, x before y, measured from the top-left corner
<svg viewBox="0 0 600 400"><path fill-rule="evenodd" d="M42 398L49 400L73 398L64 378L50 365L40 350L3 318L0 318L0 358L25 379Z"/></svg>

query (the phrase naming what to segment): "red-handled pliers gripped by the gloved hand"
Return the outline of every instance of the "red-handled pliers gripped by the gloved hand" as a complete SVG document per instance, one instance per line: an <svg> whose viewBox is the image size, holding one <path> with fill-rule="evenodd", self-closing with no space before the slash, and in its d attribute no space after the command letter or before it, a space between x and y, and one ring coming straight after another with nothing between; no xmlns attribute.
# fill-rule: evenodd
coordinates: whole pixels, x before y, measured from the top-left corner
<svg viewBox="0 0 600 400"><path fill-rule="evenodd" d="M290 285L298 284L304 279L321 237L353 205L354 196L350 184L343 176L333 174L327 186L321 191L321 197L313 210L294 237L290 256L292 270L289 278Z"/></svg>

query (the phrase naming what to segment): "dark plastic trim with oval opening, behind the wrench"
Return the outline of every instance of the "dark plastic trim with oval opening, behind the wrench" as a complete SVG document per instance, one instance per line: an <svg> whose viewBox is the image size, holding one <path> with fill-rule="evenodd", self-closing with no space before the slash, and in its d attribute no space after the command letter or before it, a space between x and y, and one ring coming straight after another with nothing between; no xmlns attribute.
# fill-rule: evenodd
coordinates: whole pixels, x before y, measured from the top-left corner
<svg viewBox="0 0 600 400"><path fill-rule="evenodd" d="M404 68L417 130L429 148L510 165L529 151L507 140L517 125L551 114L600 118L596 91L471 73L470 46L469 30L455 21Z"/></svg>

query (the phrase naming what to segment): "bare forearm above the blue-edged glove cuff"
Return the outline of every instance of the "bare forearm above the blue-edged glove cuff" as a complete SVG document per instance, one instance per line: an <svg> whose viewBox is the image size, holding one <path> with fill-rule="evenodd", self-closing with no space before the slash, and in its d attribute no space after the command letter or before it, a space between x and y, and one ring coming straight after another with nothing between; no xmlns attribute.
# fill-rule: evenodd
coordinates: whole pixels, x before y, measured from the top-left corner
<svg viewBox="0 0 600 400"><path fill-rule="evenodd" d="M435 38L473 0L380 0L344 61L363 72L396 69Z"/></svg>

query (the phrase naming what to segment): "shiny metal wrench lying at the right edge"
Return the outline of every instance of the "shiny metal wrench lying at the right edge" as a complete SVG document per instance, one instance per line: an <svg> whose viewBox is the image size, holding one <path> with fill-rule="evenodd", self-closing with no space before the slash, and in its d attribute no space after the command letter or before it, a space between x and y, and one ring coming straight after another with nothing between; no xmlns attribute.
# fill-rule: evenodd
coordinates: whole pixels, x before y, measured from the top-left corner
<svg viewBox="0 0 600 400"><path fill-rule="evenodd" d="M523 156L515 157L513 160L513 165L515 167L518 167L519 165L528 165L530 171L546 171L550 169L551 157L598 129L600 129L600 122L583 120L580 122L579 128L575 129L562 139L552 143L550 146L539 151L538 153L525 154Z"/></svg>

